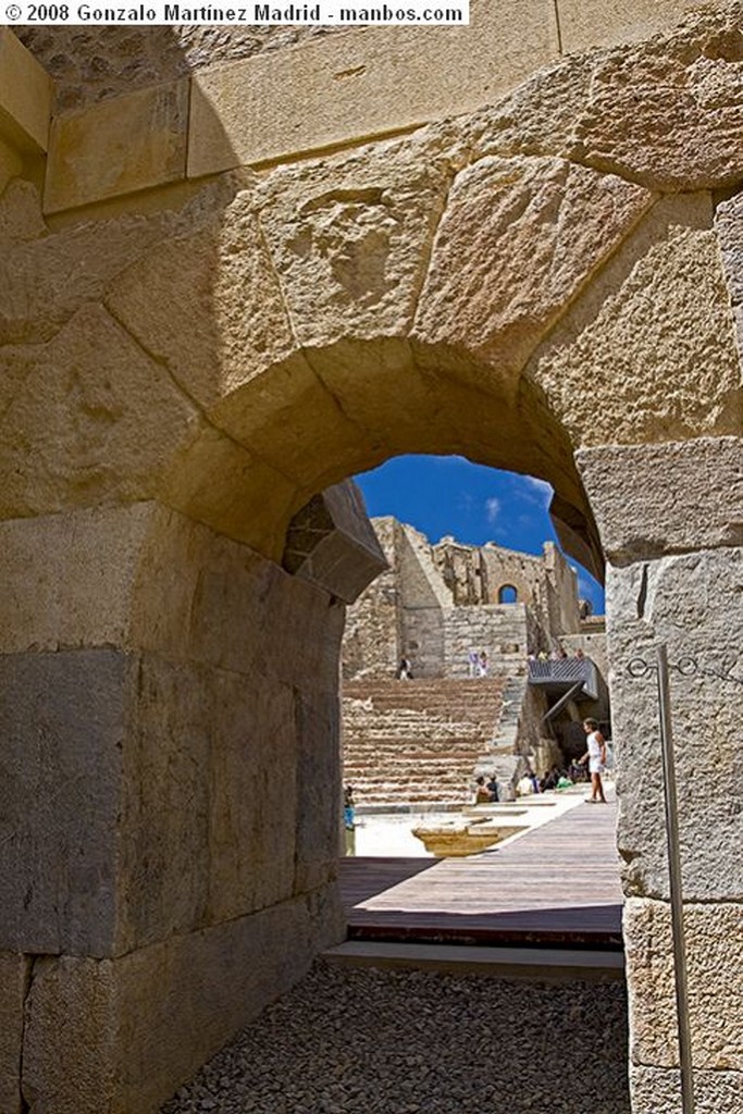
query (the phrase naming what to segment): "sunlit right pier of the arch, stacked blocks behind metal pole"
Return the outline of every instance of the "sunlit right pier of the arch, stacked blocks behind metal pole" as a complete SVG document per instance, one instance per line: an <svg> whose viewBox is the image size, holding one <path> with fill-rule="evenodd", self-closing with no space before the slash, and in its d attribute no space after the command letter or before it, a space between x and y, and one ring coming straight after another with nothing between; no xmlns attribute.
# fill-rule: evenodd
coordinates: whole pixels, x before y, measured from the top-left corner
<svg viewBox="0 0 743 1114"><path fill-rule="evenodd" d="M696 1110L743 1108L742 459L733 437L578 453L609 561L634 1114L682 1108L656 677L627 672L635 657L653 664L659 642L676 666Z"/></svg>

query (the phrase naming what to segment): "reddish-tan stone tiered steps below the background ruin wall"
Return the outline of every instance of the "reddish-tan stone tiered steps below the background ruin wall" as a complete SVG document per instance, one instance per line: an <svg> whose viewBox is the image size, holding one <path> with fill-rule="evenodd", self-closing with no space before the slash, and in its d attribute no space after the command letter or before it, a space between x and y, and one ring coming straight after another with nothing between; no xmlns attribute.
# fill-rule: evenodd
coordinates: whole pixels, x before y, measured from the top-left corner
<svg viewBox="0 0 743 1114"><path fill-rule="evenodd" d="M344 682L343 780L356 803L469 800L505 687L500 677Z"/></svg>

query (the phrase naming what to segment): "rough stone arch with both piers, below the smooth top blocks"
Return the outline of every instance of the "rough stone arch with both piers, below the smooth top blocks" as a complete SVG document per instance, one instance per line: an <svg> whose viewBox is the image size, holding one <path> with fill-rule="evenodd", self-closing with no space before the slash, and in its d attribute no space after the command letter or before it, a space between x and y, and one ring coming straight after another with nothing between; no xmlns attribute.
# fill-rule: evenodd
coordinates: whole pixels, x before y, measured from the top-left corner
<svg viewBox="0 0 743 1114"><path fill-rule="evenodd" d="M356 469L417 449L548 479L568 547L609 561L614 659L657 637L706 655L716 680L688 683L681 721L708 740L712 703L734 736L727 625L702 600L714 576L733 590L740 557L740 275L725 274L740 57L731 6L411 136L231 170L151 207L127 195L56 231L32 185L11 183L2 668L21 751L1 947L27 999L27 1094L78 1114L81 1092L91 1108L104 1094L154 1108L342 930L327 792L342 607L278 560L296 514ZM620 846L643 1111L674 1077L653 950L667 890L657 759L639 753L652 693L617 668L613 696L636 774ZM702 760L684 761L691 781ZM43 770L41 815L27 805ZM274 800L272 819L258 803ZM703 803L684 821L690 935L730 973L740 863L725 801ZM75 852L72 873L53 869ZM723 993L697 1003L713 1106L740 1083L740 1038L711 1017ZM62 1078L74 1062L79 1078Z"/></svg>

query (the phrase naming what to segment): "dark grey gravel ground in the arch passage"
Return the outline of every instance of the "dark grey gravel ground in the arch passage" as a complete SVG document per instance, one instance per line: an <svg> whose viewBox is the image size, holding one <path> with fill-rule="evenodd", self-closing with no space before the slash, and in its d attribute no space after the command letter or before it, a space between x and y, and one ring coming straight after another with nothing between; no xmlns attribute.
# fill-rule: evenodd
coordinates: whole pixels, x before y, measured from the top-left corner
<svg viewBox="0 0 743 1114"><path fill-rule="evenodd" d="M162 1114L629 1114L623 983L315 964Z"/></svg>

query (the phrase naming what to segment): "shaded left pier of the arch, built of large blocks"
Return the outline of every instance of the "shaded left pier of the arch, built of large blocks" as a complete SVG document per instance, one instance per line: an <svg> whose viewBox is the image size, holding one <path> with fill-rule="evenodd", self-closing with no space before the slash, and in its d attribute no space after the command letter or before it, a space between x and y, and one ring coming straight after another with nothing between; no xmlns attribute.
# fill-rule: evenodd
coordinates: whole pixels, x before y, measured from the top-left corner
<svg viewBox="0 0 743 1114"><path fill-rule="evenodd" d="M344 608L153 502L0 555L0 1110L147 1114L342 936Z"/></svg>

